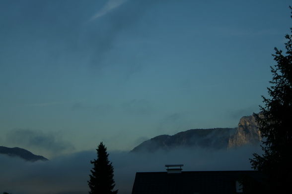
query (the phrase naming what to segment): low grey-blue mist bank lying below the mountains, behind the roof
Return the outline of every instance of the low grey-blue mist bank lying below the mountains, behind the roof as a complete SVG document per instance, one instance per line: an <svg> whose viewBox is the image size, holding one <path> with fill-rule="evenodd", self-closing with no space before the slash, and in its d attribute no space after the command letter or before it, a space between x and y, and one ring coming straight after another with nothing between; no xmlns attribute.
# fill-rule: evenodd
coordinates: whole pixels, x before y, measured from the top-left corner
<svg viewBox="0 0 292 194"><path fill-rule="evenodd" d="M251 170L249 158L260 146L230 150L175 149L154 153L109 151L119 194L131 194L136 172L165 171L165 164L184 164L183 171ZM0 155L0 193L87 194L95 151L82 151L47 162L25 162Z"/></svg>

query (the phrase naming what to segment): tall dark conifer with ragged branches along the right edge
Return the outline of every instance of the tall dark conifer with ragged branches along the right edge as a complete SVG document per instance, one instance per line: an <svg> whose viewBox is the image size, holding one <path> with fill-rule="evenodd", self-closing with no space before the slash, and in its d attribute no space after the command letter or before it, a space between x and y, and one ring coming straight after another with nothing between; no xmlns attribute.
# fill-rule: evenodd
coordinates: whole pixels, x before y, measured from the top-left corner
<svg viewBox="0 0 292 194"><path fill-rule="evenodd" d="M292 186L292 35L285 38L286 54L278 48L273 54L277 64L271 67L270 98L263 97L265 106L260 106L261 114L254 114L264 154L254 153L250 162L253 169L266 174L271 193L286 193Z"/></svg>

